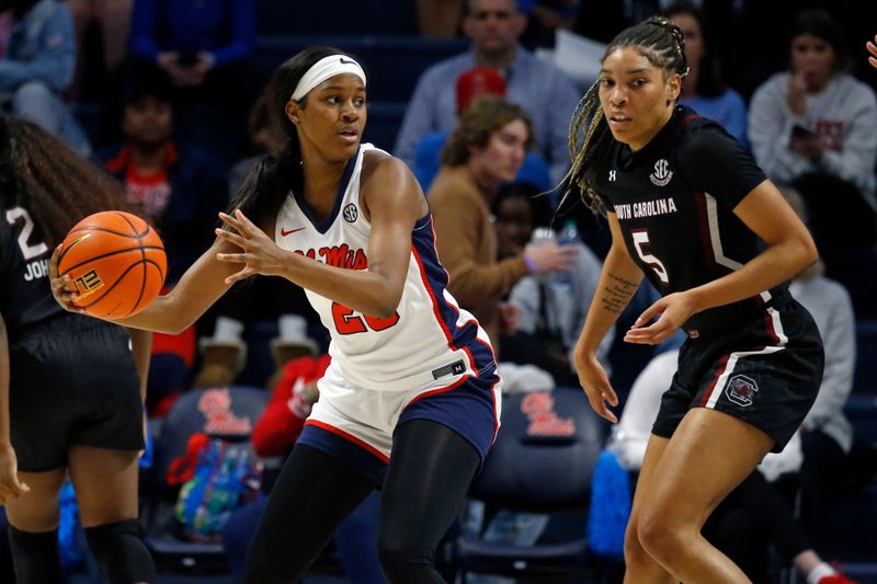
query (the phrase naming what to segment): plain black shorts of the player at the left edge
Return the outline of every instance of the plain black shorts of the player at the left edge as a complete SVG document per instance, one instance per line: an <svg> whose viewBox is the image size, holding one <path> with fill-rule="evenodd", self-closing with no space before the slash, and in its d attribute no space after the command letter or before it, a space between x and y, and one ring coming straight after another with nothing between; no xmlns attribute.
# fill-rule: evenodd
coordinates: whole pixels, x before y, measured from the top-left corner
<svg viewBox="0 0 877 584"><path fill-rule="evenodd" d="M10 346L10 422L19 469L67 465L71 444L140 450L140 385L127 332L79 314L33 327Z"/></svg>

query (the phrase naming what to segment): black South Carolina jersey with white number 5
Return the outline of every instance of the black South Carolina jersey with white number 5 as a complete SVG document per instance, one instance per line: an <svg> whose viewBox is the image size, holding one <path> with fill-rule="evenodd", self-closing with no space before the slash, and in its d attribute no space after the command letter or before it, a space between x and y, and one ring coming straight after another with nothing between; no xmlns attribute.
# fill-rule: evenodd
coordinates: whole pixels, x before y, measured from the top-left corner
<svg viewBox="0 0 877 584"><path fill-rule="evenodd" d="M613 140L594 188L618 218L630 257L668 295L717 279L758 255L763 242L733 208L764 180L721 126L680 105L642 149L633 152ZM694 314L683 329L694 337L722 330L787 296L783 284Z"/></svg>

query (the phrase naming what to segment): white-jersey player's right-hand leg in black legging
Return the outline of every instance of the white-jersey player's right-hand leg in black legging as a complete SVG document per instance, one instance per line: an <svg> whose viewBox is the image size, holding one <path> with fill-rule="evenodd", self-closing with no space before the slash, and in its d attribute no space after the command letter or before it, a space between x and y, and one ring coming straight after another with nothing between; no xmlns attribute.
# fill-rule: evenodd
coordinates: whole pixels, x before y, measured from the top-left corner
<svg viewBox="0 0 877 584"><path fill-rule="evenodd" d="M391 583L443 583L435 550L460 512L481 456L431 420L397 427L381 495L378 558Z"/></svg>

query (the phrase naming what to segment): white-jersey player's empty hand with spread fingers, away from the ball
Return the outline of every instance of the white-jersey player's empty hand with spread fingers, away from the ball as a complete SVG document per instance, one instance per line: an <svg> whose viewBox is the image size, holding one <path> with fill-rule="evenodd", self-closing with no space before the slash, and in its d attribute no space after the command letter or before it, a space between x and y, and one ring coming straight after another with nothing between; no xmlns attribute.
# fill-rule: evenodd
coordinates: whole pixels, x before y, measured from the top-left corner
<svg viewBox="0 0 877 584"><path fill-rule="evenodd" d="M226 278L226 284L234 284L246 279L253 274L265 276L281 275L284 267L285 251L280 249L264 231L248 219L240 209L235 210L235 216L219 214L219 218L231 229L216 229L216 234L234 243L242 250L241 253L217 253L220 262L244 264L240 272ZM232 231L234 229L234 231ZM237 233L235 232L237 231Z"/></svg>

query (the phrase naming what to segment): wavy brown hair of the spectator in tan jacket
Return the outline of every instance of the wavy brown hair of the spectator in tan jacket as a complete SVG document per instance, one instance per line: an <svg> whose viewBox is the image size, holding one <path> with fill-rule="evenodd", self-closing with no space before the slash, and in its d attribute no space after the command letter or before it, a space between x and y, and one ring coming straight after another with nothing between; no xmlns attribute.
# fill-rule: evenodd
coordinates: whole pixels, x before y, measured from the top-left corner
<svg viewBox="0 0 877 584"><path fill-rule="evenodd" d="M448 167L465 164L471 156L469 148L486 147L497 130L515 119L523 121L527 126L526 148L529 150L533 146L533 123L520 105L496 95L476 98L459 116L457 127L442 149L442 164Z"/></svg>

